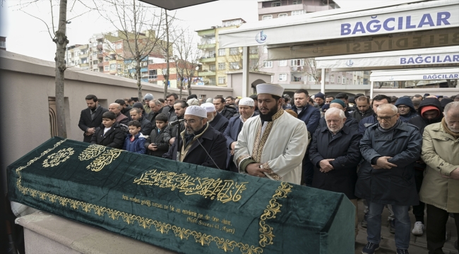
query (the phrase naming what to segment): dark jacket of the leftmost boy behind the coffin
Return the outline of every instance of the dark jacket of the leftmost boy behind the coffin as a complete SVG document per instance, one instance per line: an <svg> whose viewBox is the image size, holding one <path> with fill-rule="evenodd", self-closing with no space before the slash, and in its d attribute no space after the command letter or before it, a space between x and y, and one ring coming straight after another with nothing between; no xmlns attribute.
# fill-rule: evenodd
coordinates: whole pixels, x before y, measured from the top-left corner
<svg viewBox="0 0 459 254"><path fill-rule="evenodd" d="M113 147L121 149L124 143L125 129L119 123L114 123L112 128L104 135L105 126L101 124L95 129L91 144L104 145L106 147Z"/></svg>

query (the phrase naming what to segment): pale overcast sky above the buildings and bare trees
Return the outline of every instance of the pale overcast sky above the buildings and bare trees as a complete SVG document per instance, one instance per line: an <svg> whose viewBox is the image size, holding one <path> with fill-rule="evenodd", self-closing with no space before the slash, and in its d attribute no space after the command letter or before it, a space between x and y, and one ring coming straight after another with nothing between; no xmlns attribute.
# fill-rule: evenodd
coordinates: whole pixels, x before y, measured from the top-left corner
<svg viewBox="0 0 459 254"><path fill-rule="evenodd" d="M83 0L83 2L88 0ZM371 4L383 0L371 0ZM19 0L6 0L0 7L0 36L6 36L6 49L10 52L32 56L37 59L54 61L56 44L52 42L47 32L46 25L36 18L32 18L22 11L17 11ZM73 3L72 0L68 1ZM91 1L88 1L91 2ZM368 0L335 0L341 8L352 6L363 6L369 4ZM70 10L68 6L68 10ZM42 18L47 23L51 23L51 12L49 1L40 0L37 4L26 8L28 13ZM83 13L84 8L76 6L75 9L68 11L67 18L70 19L77 14ZM80 11L80 12L78 12ZM246 22L256 22L258 20L258 5L254 0L220 0L181 8L175 13L182 26L189 30L210 28L213 25L221 25L222 20L232 18L243 18ZM58 13L54 13L55 16ZM112 25L107 23L96 12L86 13L71 20L67 25L67 36L69 44L87 44L91 35L100 32L115 30Z"/></svg>

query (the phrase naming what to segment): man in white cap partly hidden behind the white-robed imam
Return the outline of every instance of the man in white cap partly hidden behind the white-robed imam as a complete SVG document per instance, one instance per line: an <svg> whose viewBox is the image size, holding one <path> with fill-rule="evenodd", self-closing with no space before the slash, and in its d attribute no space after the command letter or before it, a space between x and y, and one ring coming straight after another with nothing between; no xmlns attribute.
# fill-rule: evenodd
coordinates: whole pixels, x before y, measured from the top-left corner
<svg viewBox="0 0 459 254"><path fill-rule="evenodd" d="M254 99L249 97L242 98L239 100L239 114L233 116L229 119L228 126L223 133L226 138L226 145L228 148L228 159L227 159L227 169L233 172L239 172L236 164L233 162L234 147L237 144L237 136L242 130L244 123L253 116L258 116L258 113L255 112L255 102Z"/></svg>

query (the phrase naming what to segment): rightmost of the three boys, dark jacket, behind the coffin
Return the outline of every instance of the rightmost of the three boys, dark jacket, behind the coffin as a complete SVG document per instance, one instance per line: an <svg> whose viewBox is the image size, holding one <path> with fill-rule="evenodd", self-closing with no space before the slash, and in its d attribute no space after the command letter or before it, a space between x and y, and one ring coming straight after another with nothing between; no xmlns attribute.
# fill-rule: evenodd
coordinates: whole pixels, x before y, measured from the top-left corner
<svg viewBox="0 0 459 254"><path fill-rule="evenodd" d="M167 116L165 114L157 114L155 117L156 126L151 131L148 138L145 140L145 149L147 155L162 157L168 150L169 144L164 141L165 129L167 127Z"/></svg>

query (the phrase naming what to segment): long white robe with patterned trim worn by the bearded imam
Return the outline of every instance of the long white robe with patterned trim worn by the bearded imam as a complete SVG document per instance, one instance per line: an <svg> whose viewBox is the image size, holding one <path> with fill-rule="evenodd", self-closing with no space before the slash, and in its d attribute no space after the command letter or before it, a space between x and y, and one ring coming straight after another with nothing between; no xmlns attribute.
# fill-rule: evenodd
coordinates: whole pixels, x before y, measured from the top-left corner
<svg viewBox="0 0 459 254"><path fill-rule="evenodd" d="M263 164L263 169L270 170L265 173L269 179L300 184L308 144L304 122L281 109L263 129L264 132L260 116L244 123L234 148L234 164L240 168L244 160L254 159ZM245 173L241 169L239 172Z"/></svg>

